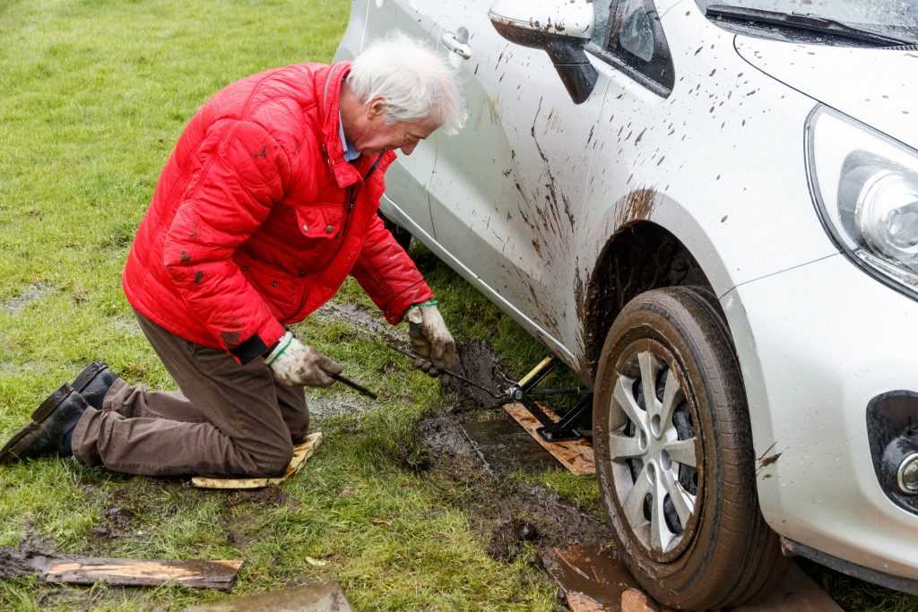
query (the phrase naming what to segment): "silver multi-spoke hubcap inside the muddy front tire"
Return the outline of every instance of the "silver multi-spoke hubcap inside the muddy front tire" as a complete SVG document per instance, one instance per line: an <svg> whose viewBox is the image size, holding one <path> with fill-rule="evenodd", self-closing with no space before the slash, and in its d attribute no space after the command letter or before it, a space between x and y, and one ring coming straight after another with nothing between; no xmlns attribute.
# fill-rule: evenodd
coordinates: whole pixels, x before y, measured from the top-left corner
<svg viewBox="0 0 918 612"><path fill-rule="evenodd" d="M694 528L699 447L674 360L661 346L642 349L617 374L609 452L623 516L645 549L666 557Z"/></svg>

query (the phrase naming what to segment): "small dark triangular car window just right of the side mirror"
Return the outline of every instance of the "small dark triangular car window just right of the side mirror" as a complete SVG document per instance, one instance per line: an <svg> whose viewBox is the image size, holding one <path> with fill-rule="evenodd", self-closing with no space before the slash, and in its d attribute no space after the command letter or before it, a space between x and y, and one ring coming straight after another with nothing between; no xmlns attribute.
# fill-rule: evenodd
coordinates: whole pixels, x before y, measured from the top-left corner
<svg viewBox="0 0 918 612"><path fill-rule="evenodd" d="M656 93L675 83L669 45L653 0L597 0L590 50Z"/></svg>

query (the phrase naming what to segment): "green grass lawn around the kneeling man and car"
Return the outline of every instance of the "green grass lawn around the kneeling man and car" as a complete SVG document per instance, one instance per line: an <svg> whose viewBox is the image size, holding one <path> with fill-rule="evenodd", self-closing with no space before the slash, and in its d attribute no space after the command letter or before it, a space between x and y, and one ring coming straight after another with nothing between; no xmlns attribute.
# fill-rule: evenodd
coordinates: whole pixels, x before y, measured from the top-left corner
<svg viewBox="0 0 918 612"><path fill-rule="evenodd" d="M0 434L104 358L130 382L173 383L133 323L120 273L163 162L209 95L252 72L328 61L350 4L319 0L4 0L0 3ZM419 249L459 339L488 339L520 373L543 349ZM353 283L336 298L372 308ZM439 388L351 326L299 334L382 400L324 419L326 441L281 503L130 478L72 461L0 470L0 547L73 554L244 558L234 595L341 580L358 609L552 609L522 555L496 562L449 483L406 468ZM351 398L335 388L310 397ZM601 516L595 481L522 476ZM319 564L307 558L319 560ZM322 564L324 563L324 564ZM918 609L912 597L808 566L848 610ZM0 579L0 609L181 609L225 595L174 587L59 589Z"/></svg>

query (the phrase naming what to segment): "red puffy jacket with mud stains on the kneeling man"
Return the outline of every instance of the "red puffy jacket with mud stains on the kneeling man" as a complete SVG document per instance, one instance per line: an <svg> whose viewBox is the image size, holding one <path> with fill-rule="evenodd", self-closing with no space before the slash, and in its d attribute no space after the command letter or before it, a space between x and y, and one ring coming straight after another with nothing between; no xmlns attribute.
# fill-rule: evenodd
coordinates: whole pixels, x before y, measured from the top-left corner
<svg viewBox="0 0 918 612"><path fill-rule="evenodd" d="M376 215L395 153L344 161L338 97L349 71L342 62L261 72L196 113L131 247L131 306L248 362L349 273L390 323L431 298Z"/></svg>

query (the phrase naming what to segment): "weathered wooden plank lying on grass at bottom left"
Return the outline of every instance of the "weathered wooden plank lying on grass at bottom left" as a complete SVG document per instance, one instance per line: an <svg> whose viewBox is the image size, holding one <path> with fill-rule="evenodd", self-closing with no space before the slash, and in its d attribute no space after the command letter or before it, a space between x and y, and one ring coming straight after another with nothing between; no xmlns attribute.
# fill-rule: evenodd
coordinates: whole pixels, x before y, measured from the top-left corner
<svg viewBox="0 0 918 612"><path fill-rule="evenodd" d="M196 561L166 559L109 559L81 557L29 560L42 580L65 584L118 584L159 586L179 584L226 591L236 582L241 560Z"/></svg>

